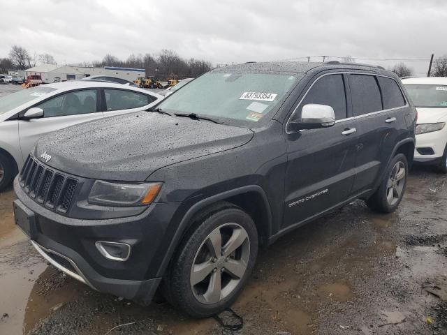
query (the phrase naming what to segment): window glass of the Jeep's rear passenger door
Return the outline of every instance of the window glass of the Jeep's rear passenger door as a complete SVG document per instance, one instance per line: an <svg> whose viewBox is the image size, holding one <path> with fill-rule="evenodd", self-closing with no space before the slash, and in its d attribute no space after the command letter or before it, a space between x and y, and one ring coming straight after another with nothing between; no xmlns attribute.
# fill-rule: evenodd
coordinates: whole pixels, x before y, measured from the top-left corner
<svg viewBox="0 0 447 335"><path fill-rule="evenodd" d="M382 101L374 75L349 75L354 116L379 112Z"/></svg>

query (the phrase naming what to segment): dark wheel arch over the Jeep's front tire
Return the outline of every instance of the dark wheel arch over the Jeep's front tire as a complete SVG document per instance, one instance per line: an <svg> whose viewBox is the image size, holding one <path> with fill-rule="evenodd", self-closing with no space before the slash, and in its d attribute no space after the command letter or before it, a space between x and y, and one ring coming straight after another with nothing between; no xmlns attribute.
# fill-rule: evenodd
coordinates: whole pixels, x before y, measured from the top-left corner
<svg viewBox="0 0 447 335"><path fill-rule="evenodd" d="M197 221L197 218L200 218L200 213L207 211L216 204L219 204L219 202L229 202L246 211L256 225L261 244L267 243L272 230L272 213L267 195L263 188L258 185L235 188L200 200L186 211L186 214L182 217L174 237L168 246L166 255L157 271L157 276L163 276L166 273L168 265L170 264L175 251L177 251L177 248L182 243L184 235L188 232L189 228L191 228L191 225Z"/></svg>

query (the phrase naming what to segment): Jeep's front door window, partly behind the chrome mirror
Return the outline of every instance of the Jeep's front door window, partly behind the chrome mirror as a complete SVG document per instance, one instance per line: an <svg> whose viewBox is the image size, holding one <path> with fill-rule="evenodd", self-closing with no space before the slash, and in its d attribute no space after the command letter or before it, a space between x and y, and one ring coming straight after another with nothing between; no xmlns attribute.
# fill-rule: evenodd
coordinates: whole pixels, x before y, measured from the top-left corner
<svg viewBox="0 0 447 335"><path fill-rule="evenodd" d="M346 119L346 94L342 75L325 75L307 92L301 107L309 103L328 105L334 109L335 119Z"/></svg>

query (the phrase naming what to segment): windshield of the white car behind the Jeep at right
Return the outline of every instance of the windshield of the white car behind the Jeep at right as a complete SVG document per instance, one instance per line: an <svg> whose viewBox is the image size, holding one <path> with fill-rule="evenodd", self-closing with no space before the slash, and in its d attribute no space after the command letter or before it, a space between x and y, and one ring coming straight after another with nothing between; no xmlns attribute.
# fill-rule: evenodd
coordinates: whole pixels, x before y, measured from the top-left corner
<svg viewBox="0 0 447 335"><path fill-rule="evenodd" d="M447 107L447 85L405 85L416 107Z"/></svg>

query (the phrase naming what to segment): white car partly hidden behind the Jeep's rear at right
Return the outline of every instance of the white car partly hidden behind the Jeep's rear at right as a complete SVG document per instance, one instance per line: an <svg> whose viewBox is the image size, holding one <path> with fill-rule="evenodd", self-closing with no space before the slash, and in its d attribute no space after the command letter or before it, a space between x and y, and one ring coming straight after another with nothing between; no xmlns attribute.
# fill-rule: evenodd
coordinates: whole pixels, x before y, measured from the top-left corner
<svg viewBox="0 0 447 335"><path fill-rule="evenodd" d="M402 83L418 110L414 160L447 173L447 78L412 77Z"/></svg>

